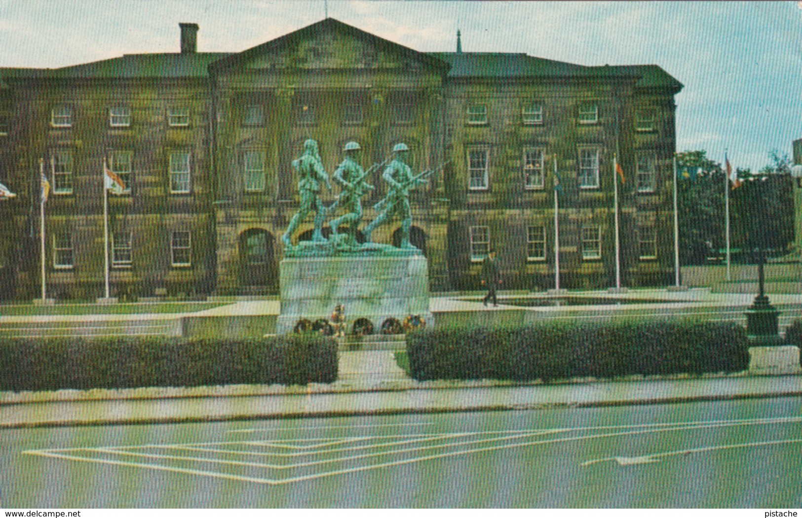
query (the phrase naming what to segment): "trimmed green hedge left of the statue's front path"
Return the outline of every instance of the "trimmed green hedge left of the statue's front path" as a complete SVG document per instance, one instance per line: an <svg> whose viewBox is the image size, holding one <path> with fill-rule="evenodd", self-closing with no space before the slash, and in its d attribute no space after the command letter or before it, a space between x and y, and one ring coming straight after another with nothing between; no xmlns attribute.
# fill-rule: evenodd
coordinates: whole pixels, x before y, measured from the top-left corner
<svg viewBox="0 0 802 518"><path fill-rule="evenodd" d="M0 390L14 392L331 383L337 368L337 343L318 335L0 340Z"/></svg>

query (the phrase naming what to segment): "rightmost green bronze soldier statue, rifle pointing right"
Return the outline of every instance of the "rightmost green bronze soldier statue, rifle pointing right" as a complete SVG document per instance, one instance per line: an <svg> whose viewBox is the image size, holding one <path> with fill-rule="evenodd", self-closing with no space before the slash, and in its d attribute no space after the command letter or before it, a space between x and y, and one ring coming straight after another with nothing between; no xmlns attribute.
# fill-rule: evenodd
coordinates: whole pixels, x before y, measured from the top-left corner
<svg viewBox="0 0 802 518"><path fill-rule="evenodd" d="M428 183L423 177L431 174L431 171L424 171L420 175L413 176L412 171L407 166L407 155L409 148L404 143L396 144L393 147L394 158L387 169L384 170L382 178L390 184L390 191L387 196L376 203L374 208L383 212L374 219L363 230L366 243L371 242L371 233L391 216L398 214L401 217L401 248L417 249L409 242L409 233L412 228L412 213L409 206L409 191L415 187Z"/></svg>

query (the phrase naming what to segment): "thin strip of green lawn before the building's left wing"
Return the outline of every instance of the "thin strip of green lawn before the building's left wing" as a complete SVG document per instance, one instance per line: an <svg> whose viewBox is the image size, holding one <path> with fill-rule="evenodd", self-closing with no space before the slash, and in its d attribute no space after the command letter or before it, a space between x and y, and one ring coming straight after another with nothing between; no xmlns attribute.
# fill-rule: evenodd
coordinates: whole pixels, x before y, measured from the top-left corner
<svg viewBox="0 0 802 518"><path fill-rule="evenodd" d="M213 307L225 306L225 302L157 302L121 304L56 304L34 306L19 304L0 306L0 316L27 315L124 315L131 313L192 313Z"/></svg>

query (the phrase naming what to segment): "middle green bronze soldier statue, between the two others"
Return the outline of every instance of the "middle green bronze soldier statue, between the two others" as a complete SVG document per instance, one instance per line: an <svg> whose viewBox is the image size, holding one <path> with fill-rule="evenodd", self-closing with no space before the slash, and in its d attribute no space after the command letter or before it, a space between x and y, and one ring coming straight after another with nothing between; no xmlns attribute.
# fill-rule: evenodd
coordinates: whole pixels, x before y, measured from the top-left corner
<svg viewBox="0 0 802 518"><path fill-rule="evenodd" d="M343 214L337 219L333 219L330 223L331 238L336 241L338 239L338 229L343 223L348 223L348 238L346 244L350 247L356 247L356 232L359 223L362 222L362 196L367 191L373 191L374 187L365 182L365 178L372 171L369 169L367 172L363 171L362 166L358 163L358 153L362 147L358 143L346 143L342 151L345 152L345 159L342 159L339 167L334 171L332 178L334 183L342 188L334 203L326 210L330 215L337 213L338 207L345 207L346 214Z"/></svg>

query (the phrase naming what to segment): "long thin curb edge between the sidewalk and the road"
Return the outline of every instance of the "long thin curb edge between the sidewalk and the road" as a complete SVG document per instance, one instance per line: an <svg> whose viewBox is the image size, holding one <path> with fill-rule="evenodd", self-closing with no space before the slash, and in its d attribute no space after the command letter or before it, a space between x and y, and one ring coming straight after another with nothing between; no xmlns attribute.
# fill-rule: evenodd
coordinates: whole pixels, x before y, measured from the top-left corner
<svg viewBox="0 0 802 518"><path fill-rule="evenodd" d="M278 419L308 419L350 416L395 416L404 414L444 414L456 412L509 412L529 410L554 410L560 408L606 408L651 404L681 404L698 403L704 401L734 401L751 399L768 399L778 397L802 396L802 391L761 392L751 394L726 394L709 396L674 396L666 398L645 398L636 400L600 400L587 402L565 403L533 403L513 405L476 405L467 407L430 407L430 408L379 408L363 411L330 411L330 412L266 412L232 414L230 416L188 416L163 418L131 418L107 420L60 420L60 421L34 421L25 423L0 424L0 430L17 428L57 428L73 426L102 426L102 425L132 425L132 424L183 424L183 423L217 423L225 421L244 420L278 420Z"/></svg>

